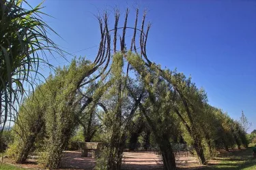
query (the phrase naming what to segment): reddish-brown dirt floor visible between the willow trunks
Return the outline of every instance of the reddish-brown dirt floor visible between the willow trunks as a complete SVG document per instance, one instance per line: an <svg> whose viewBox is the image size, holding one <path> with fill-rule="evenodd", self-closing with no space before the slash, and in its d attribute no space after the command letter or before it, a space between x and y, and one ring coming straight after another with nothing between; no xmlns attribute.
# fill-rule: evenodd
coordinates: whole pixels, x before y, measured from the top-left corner
<svg viewBox="0 0 256 170"><path fill-rule="evenodd" d="M38 165L34 159L28 159L27 163L22 165L15 164L8 158L4 159L5 163L14 164L18 167L26 167L31 169L42 169L42 165ZM96 160L91 158L91 152L88 157L81 157L80 151L65 151L61 160L61 169L94 169ZM197 167L199 166L194 156L180 156L177 159L178 167ZM162 161L154 152L124 152L124 160L122 169L162 169Z"/></svg>

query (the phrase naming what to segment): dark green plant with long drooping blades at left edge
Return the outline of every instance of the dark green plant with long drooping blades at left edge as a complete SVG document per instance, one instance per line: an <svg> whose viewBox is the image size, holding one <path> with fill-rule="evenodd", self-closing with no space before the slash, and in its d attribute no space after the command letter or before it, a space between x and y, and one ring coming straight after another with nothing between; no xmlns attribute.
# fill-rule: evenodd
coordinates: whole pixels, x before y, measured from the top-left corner
<svg viewBox="0 0 256 170"><path fill-rule="evenodd" d="M25 83L32 88L35 85L35 78L41 75L40 65L51 66L46 54L63 54L47 36L55 31L40 17L46 15L41 9L42 3L31 7L25 0L0 0L1 126L16 113L16 103L26 95Z"/></svg>

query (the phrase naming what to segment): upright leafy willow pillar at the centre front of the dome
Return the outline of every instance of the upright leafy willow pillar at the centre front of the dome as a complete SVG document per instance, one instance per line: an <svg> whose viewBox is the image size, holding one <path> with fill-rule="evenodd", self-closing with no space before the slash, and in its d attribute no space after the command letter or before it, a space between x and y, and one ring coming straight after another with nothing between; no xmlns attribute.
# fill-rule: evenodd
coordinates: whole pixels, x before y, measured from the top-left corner
<svg viewBox="0 0 256 170"><path fill-rule="evenodd" d="M124 116L128 116L129 101L125 78L123 73L124 58L122 53L113 55L109 81L113 84L102 96L101 101L105 103L108 112L104 115L104 141L106 149L98 159L96 169L120 169L122 164L122 153L124 150L123 134L125 133ZM125 115L126 114L126 115Z"/></svg>

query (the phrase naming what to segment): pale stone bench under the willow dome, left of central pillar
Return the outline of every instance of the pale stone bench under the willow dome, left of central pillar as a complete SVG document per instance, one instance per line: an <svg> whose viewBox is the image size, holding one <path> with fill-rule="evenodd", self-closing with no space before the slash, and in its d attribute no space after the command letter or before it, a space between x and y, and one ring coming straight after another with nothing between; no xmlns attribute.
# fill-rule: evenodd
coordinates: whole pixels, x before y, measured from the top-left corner
<svg viewBox="0 0 256 170"><path fill-rule="evenodd" d="M100 154L100 150L104 148L103 142L79 142L79 148L81 148L81 156L87 157L88 150L92 150L92 158L97 158Z"/></svg>

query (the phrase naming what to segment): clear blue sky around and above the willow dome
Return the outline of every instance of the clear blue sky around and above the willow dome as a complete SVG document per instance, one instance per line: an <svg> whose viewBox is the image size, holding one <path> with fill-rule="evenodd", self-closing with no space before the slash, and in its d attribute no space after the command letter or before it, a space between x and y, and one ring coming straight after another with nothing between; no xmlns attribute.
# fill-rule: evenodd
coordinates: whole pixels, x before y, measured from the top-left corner
<svg viewBox="0 0 256 170"><path fill-rule="evenodd" d="M30 0L32 6L41 1ZM238 120L242 110L256 129L256 1L68 1L46 0L44 20L61 35L50 35L67 52L93 59L100 41L94 14L117 6L122 12L148 9L152 29L148 57L186 75L208 92L209 103ZM124 16L124 13L122 13ZM111 16L113 18L113 15ZM110 22L113 25L113 20ZM82 50L81 52L77 52ZM71 56L67 56L70 60ZM68 64L63 58L51 64ZM47 69L44 70L48 74Z"/></svg>

